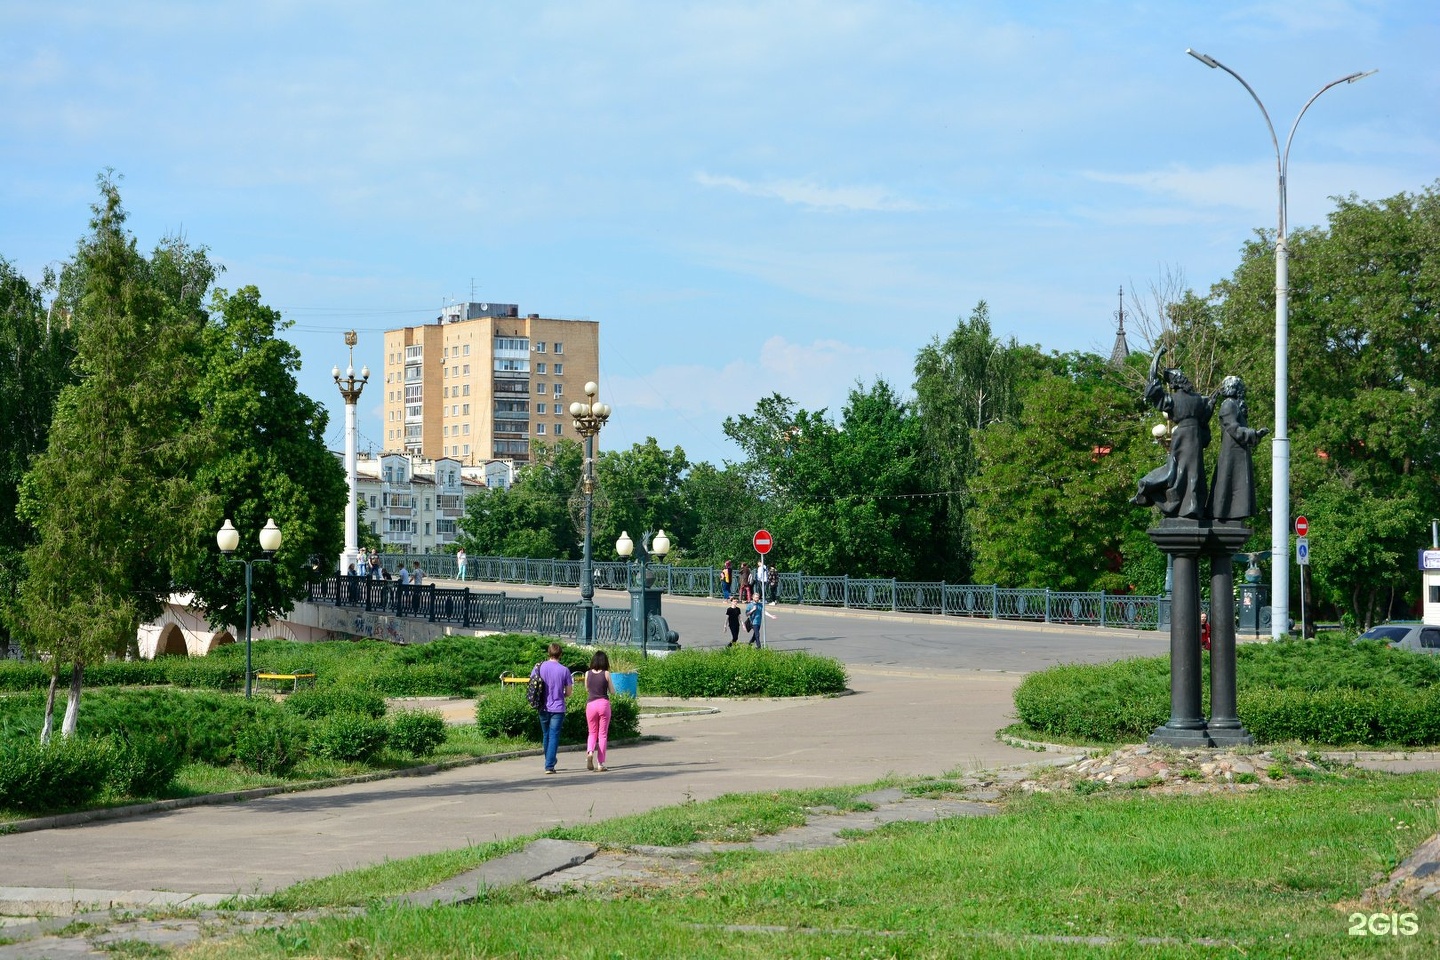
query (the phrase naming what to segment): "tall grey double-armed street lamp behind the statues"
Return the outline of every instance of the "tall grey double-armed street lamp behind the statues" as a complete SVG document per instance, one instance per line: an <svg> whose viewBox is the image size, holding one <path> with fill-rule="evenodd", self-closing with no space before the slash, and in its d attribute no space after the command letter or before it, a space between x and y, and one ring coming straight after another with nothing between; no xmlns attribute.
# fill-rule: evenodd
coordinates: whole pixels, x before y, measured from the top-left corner
<svg viewBox="0 0 1440 960"><path fill-rule="evenodd" d="M1280 150L1280 140L1274 135L1274 124L1270 122L1270 112L1264 104L1246 83L1246 79L1212 56L1185 49L1192 58L1211 69L1221 69L1240 81L1270 131L1270 144L1274 147L1274 167L1279 184L1279 229L1274 242L1274 440L1270 445L1270 636L1280 639L1290 632L1290 370L1289 370L1289 337L1290 337L1290 249L1287 242L1289 210L1286 200L1286 176L1290 167L1290 142L1295 140L1295 128L1300 125L1305 111L1319 99L1320 94L1339 86L1354 83L1358 79L1377 73L1378 71L1364 71L1331 81L1319 89L1305 107L1296 114L1290 124L1290 134L1284 138L1284 150Z"/></svg>

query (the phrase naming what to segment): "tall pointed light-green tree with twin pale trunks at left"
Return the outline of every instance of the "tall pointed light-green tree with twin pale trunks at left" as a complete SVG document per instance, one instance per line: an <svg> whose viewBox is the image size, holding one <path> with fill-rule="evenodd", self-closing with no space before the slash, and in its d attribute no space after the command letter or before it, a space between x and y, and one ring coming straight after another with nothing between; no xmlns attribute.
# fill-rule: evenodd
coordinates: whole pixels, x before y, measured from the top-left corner
<svg viewBox="0 0 1440 960"><path fill-rule="evenodd" d="M190 403L203 318L184 302L212 269L181 242L145 259L124 229L114 181L101 177L99 187L92 233L75 256L79 380L60 391L49 445L20 494L37 540L24 554L16 620L53 665L45 735L59 671L71 668L69 735L85 664L122 651L213 535L212 501L193 481L213 449Z"/></svg>

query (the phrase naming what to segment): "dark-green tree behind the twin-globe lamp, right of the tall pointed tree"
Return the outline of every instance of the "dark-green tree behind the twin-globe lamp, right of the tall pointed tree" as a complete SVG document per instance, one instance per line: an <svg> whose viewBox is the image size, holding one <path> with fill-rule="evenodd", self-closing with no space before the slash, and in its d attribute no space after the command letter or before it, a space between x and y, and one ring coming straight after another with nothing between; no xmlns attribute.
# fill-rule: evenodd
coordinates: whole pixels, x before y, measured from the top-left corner
<svg viewBox="0 0 1440 960"><path fill-rule="evenodd" d="M325 449L328 415L300 391L300 351L275 335L288 325L255 286L215 291L193 399L202 430L215 440L194 476L215 504L212 528L229 518L242 531L238 556L246 558L261 556L258 534L268 518L284 533L272 563L255 567L259 623L304 597L311 556L340 551L348 498L344 468ZM245 569L217 551L193 553L176 583L215 623L243 620Z"/></svg>

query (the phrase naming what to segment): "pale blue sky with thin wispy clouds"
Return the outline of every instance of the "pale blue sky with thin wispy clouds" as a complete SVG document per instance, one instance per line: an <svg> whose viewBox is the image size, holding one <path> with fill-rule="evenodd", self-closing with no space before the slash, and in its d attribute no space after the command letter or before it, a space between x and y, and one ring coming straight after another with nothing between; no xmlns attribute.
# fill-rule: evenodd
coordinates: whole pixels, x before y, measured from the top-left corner
<svg viewBox="0 0 1440 960"><path fill-rule="evenodd" d="M1109 354L1120 286L1230 275L1276 153L1187 47L1282 147L1380 71L1299 124L1292 230L1440 177L1433 0L6 0L0 256L69 258L112 168L143 248L206 246L294 324L331 448L344 331L383 379L384 330L475 299L600 322L602 449L719 465L770 393L909 394L981 299Z"/></svg>

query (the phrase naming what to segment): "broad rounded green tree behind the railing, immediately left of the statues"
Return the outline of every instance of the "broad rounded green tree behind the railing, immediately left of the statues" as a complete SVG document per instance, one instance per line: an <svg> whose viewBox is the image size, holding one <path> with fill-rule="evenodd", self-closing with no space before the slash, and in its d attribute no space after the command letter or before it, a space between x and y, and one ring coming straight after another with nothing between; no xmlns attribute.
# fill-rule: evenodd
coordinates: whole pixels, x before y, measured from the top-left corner
<svg viewBox="0 0 1440 960"><path fill-rule="evenodd" d="M1017 420L975 435L976 580L1126 592L1140 587L1128 550L1164 576L1143 537L1151 511L1128 502L1153 453L1125 373L1093 354L1051 357L1020 393Z"/></svg>

